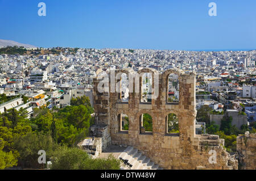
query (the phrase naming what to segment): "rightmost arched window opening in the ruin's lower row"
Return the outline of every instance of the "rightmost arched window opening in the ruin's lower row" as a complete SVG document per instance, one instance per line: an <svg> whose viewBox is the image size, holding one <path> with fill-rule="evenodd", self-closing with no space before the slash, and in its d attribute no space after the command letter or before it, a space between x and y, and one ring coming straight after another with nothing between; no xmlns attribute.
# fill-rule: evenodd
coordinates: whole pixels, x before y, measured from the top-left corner
<svg viewBox="0 0 256 181"><path fill-rule="evenodd" d="M179 120L175 113L170 113L166 116L166 133L179 134Z"/></svg>

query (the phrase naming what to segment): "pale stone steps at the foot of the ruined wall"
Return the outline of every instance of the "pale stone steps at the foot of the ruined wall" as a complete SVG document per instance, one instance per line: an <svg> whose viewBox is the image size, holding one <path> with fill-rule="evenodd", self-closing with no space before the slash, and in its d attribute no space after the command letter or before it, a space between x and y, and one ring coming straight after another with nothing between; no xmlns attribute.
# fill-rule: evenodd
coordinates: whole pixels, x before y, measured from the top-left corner
<svg viewBox="0 0 256 181"><path fill-rule="evenodd" d="M145 155L142 155L138 149L133 148L133 146L128 146L119 156L118 159L127 159L129 165L125 164L123 169L131 170L163 170L154 162L150 161L150 158L147 158Z"/></svg>

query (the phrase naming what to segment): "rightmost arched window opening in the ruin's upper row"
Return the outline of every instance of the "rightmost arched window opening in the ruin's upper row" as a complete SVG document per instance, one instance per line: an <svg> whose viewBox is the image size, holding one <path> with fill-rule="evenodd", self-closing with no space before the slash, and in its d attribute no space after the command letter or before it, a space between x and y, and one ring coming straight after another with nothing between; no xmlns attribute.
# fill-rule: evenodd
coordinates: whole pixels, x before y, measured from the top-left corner
<svg viewBox="0 0 256 181"><path fill-rule="evenodd" d="M167 103L179 102L179 79L177 74L170 74L167 82Z"/></svg>

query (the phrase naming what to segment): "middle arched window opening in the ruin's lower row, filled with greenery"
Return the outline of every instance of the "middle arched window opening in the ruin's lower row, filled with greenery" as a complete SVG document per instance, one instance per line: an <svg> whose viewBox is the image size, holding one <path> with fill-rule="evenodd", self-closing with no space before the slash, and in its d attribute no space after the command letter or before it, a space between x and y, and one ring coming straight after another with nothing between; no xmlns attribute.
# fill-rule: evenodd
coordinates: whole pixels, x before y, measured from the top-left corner
<svg viewBox="0 0 256 181"><path fill-rule="evenodd" d="M140 116L140 133L141 134L152 134L153 131L153 123L152 117L148 113L143 113Z"/></svg>

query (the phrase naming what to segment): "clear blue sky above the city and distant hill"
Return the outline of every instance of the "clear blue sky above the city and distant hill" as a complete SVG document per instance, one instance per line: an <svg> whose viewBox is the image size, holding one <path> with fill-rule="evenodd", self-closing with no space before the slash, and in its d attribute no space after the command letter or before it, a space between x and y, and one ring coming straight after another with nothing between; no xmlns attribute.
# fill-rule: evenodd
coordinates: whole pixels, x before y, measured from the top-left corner
<svg viewBox="0 0 256 181"><path fill-rule="evenodd" d="M210 2L217 16L208 15ZM0 0L0 39L46 48L256 49L255 8L255 0Z"/></svg>

